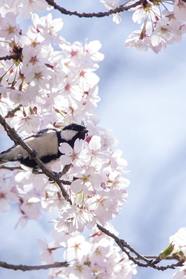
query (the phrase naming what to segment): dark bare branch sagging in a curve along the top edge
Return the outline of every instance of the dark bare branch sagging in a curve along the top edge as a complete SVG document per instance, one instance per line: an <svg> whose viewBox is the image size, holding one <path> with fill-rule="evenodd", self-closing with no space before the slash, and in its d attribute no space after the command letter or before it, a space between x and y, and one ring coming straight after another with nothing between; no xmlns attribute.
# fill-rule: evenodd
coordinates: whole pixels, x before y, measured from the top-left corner
<svg viewBox="0 0 186 279"><path fill-rule="evenodd" d="M78 17L86 17L86 18L108 17L109 15L116 14L117 12L127 11L130 8L134 8L134 7L138 6L138 5L141 5L144 1L145 0L140 0L140 1L137 1L137 2L135 2L134 4L132 4L130 6L118 7L118 8L115 8L114 10L109 10L108 12L97 12L97 13L95 13L95 12L92 12L92 13L82 12L82 13L79 13L79 12L76 12L76 11L68 11L65 8L62 8L62 7L58 6L58 5L56 5L56 3L54 3L53 0L46 0L46 2L49 5L53 6L54 9L59 10L64 15L76 15Z"/></svg>

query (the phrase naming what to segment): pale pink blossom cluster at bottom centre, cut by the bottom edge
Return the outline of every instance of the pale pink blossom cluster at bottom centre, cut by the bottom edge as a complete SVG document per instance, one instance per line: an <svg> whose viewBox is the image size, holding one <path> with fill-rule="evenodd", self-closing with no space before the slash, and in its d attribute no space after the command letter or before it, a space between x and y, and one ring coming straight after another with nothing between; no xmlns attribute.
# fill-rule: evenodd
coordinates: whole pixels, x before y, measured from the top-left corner
<svg viewBox="0 0 186 279"><path fill-rule="evenodd" d="M117 235L112 226L107 226L107 229ZM74 233L56 233L56 230L51 231L51 237L55 240L49 244L42 239L37 240L42 247L42 264L53 263L55 251L58 250L60 261L62 258L69 265L51 269L49 278L55 278L57 274L62 278L130 279L136 274L132 261L128 260L126 254L119 253L120 248L114 245L114 240L98 229L93 230L87 238ZM74 277L71 277L72 274Z"/></svg>

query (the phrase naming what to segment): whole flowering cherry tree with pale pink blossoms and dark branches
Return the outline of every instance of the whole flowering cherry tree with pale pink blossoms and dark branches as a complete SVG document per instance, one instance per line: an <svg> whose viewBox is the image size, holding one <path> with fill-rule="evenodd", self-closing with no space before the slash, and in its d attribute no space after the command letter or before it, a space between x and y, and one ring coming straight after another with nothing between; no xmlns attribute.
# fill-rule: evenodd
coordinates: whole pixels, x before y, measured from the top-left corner
<svg viewBox="0 0 186 279"><path fill-rule="evenodd" d="M24 228L31 219L40 220L43 212L55 217L48 220L53 224L53 241L37 240L42 248L41 265L15 266L2 258L0 266L24 271L49 269L49 278L95 279L132 278L137 266L161 271L177 267L174 278L184 278L185 228L171 236L170 245L153 257L138 253L109 223L126 203L130 182L127 162L116 149L117 140L98 126L100 119L95 114L100 101L95 71L104 59L101 42L69 43L59 31L63 27L61 13L97 18L111 15L121 25L121 14L130 11L133 21L142 27L125 45L158 53L181 41L186 4L177 0L100 2L108 12L67 11L51 0L1 3L0 123L44 174L34 175L18 163L1 165L0 209L8 213L11 203L17 205L20 217L12 228ZM53 7L58 17L53 15ZM47 14L41 16L38 12L44 10ZM24 19L31 19L26 28ZM61 144L59 150L65 155L50 168L22 140L44 128L63 128L70 123L84 124L88 136L85 142L77 140L74 149ZM164 259L174 262L160 265Z"/></svg>

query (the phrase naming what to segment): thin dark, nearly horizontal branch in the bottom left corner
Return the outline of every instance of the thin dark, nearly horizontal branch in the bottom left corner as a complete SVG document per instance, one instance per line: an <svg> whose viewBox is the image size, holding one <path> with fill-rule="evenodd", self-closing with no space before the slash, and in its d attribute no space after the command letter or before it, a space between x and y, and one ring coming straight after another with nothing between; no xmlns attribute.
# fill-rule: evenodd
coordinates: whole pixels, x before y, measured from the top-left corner
<svg viewBox="0 0 186 279"><path fill-rule="evenodd" d="M39 270L39 269L49 269L49 268L56 268L56 267L67 267L69 264L67 262L57 262L55 264L46 264L46 265L36 265L36 266L27 266L27 265L14 265L14 264L7 264L6 262L0 261L0 267L13 269L13 270L22 270L22 271L31 271L31 270Z"/></svg>

